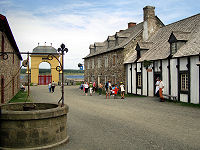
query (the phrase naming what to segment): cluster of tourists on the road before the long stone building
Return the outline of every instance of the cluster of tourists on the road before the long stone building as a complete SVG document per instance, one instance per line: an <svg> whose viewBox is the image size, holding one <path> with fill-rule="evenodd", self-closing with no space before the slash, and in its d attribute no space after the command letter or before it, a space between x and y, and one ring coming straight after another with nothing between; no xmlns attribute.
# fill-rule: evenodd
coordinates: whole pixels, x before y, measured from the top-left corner
<svg viewBox="0 0 200 150"><path fill-rule="evenodd" d="M101 96L102 91L103 91L104 85L100 82L98 85L98 91L99 91L99 96ZM81 90L84 91L85 95L88 95L88 92L90 93L90 96L92 96L93 93L95 93L97 86L95 82L85 82L82 83L80 86ZM120 86L117 84L111 84L110 80L105 83L105 91L106 91L106 99L109 98L110 96L113 95L114 99L117 98L117 94L120 92L121 93L121 99L124 99L124 94L125 94L125 86L122 82L120 82Z"/></svg>

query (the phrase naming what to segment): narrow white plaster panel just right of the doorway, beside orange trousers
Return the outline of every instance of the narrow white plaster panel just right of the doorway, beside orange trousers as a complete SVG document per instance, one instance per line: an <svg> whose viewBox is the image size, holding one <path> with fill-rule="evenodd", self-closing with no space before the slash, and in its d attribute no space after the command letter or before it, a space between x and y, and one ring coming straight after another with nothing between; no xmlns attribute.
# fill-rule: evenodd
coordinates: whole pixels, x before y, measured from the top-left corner
<svg viewBox="0 0 200 150"><path fill-rule="evenodd" d="M168 60L162 60L162 81L164 83L163 94L169 94Z"/></svg>

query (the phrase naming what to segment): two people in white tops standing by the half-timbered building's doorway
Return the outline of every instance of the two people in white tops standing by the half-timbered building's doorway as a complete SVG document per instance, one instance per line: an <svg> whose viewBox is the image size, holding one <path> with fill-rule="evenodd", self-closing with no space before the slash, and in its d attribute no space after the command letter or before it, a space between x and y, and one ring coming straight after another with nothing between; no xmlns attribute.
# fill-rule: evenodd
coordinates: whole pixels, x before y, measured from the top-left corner
<svg viewBox="0 0 200 150"><path fill-rule="evenodd" d="M164 97L163 97L163 88L164 88L164 84L162 82L161 79L159 79L159 77L156 79L156 89L155 89L155 95L160 97L160 101L164 102Z"/></svg>

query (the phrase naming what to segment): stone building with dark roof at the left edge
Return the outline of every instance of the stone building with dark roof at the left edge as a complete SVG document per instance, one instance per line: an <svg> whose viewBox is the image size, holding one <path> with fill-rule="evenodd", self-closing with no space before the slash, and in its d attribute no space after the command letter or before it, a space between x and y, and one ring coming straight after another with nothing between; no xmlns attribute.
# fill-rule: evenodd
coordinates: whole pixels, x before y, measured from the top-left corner
<svg viewBox="0 0 200 150"><path fill-rule="evenodd" d="M22 57L5 16L0 14L0 99L8 102L20 89L20 61ZM15 53L15 54L14 54Z"/></svg>

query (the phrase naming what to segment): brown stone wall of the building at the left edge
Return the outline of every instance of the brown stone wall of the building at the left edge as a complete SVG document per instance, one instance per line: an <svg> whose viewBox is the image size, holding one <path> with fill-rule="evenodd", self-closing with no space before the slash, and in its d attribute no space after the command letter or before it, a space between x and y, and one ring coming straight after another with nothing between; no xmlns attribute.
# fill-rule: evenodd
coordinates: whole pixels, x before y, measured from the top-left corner
<svg viewBox="0 0 200 150"><path fill-rule="evenodd" d="M15 52L7 36L0 32L0 51L2 51L2 35L4 37L4 52ZM4 79L4 102L13 98L20 89L20 59L16 54L8 54L8 59L4 60L0 56L0 82ZM0 103L2 98L2 87L0 84Z"/></svg>

